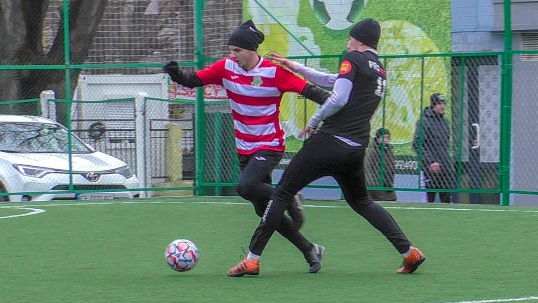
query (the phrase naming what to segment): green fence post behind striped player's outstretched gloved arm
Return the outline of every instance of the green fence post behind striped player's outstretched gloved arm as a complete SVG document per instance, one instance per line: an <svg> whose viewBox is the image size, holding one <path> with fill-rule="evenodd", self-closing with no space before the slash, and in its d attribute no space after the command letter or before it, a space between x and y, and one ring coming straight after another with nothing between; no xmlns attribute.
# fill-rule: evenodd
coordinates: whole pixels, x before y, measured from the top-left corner
<svg viewBox="0 0 538 303"><path fill-rule="evenodd" d="M203 51L203 0L195 0L194 18L195 18L195 31L196 31L196 68L202 69L204 67L204 51ZM203 87L199 87L196 90L196 184L197 195L203 196L206 194L206 189L203 186L204 183L204 150L206 140L206 115L204 112L204 97ZM217 147L218 148L218 147Z"/></svg>

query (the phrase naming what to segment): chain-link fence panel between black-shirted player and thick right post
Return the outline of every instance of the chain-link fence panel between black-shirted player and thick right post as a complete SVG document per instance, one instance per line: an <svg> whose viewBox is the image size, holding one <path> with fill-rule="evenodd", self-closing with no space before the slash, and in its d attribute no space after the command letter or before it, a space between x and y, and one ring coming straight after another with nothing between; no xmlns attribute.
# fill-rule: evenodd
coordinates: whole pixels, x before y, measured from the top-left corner
<svg viewBox="0 0 538 303"><path fill-rule="evenodd" d="M431 194L424 200L441 192L441 200L457 202L476 202L475 191L499 192L499 55L394 58L385 64L387 78L394 79L387 79L392 86L372 118L368 185L384 187L379 191L426 188ZM499 202L498 195L487 199Z"/></svg>

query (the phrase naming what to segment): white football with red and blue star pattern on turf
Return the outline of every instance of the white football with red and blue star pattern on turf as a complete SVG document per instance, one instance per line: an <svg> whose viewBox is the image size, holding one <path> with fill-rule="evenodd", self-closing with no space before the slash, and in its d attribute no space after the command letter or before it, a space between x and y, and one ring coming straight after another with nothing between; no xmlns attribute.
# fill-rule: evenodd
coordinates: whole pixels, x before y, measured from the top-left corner
<svg viewBox="0 0 538 303"><path fill-rule="evenodd" d="M189 271L198 262L198 247L187 239L176 239L166 248L166 263L175 271Z"/></svg>

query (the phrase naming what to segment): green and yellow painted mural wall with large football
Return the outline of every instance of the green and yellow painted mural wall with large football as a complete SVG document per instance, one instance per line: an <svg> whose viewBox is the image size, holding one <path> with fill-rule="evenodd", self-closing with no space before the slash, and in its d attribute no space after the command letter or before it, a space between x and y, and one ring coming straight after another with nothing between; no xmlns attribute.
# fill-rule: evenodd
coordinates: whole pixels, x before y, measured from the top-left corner
<svg viewBox="0 0 538 303"><path fill-rule="evenodd" d="M262 55L270 51L286 56L341 55L351 26L366 17L381 24L381 55L450 52L450 0L244 1L244 19L252 19L266 34L259 48ZM331 73L336 73L339 64L338 58L303 62ZM429 95L450 94L450 59L391 58L386 59L385 68L387 93L372 118L372 133L385 126L392 133L395 152L413 154L410 143L415 123L422 108L429 105ZM281 106L289 152L299 150L302 141L296 135L317 109L313 102L296 99L288 94ZM450 112L447 115L450 120Z"/></svg>

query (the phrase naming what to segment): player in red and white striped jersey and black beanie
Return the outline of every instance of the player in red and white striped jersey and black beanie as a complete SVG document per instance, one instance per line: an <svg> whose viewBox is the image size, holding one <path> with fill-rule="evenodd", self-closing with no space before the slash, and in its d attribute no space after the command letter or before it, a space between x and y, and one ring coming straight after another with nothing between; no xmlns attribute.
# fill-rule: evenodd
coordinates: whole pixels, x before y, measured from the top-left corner
<svg viewBox="0 0 538 303"><path fill-rule="evenodd" d="M319 104L329 97L327 91L261 57L257 50L264 37L264 33L248 20L228 39L229 58L195 73L182 71L175 61L163 68L174 82L183 86L219 84L226 89L241 171L236 190L252 202L260 217L274 192L271 174L284 156L286 137L279 120L282 94L299 93ZM304 220L301 199L301 196L295 196L288 207L292 219L285 216L279 221L277 231L303 252L310 266L316 266L311 256L314 244L299 232Z"/></svg>

